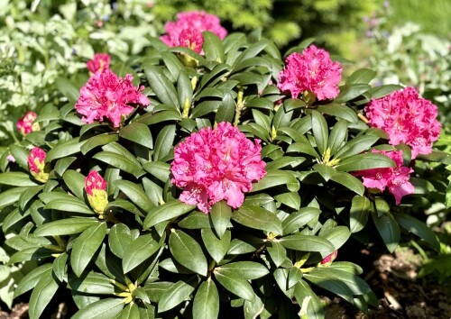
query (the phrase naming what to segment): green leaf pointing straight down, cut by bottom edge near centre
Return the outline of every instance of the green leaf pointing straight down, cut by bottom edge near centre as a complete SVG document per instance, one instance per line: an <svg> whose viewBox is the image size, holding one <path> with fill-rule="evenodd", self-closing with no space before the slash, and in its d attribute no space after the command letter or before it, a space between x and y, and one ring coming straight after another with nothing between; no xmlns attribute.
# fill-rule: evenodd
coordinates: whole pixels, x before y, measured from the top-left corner
<svg viewBox="0 0 451 319"><path fill-rule="evenodd" d="M219 294L215 282L208 278L198 287L194 297L193 318L215 319L219 315Z"/></svg>

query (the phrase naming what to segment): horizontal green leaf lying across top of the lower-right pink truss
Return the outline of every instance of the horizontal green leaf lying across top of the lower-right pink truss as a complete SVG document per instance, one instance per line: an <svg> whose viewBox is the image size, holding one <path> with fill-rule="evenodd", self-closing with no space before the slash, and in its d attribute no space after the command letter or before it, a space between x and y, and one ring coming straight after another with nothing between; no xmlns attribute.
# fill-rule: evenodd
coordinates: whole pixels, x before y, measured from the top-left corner
<svg viewBox="0 0 451 319"><path fill-rule="evenodd" d="M395 164L388 156L378 153L364 153L340 161L336 165L336 170L357 171L364 169L384 169L393 166Z"/></svg>

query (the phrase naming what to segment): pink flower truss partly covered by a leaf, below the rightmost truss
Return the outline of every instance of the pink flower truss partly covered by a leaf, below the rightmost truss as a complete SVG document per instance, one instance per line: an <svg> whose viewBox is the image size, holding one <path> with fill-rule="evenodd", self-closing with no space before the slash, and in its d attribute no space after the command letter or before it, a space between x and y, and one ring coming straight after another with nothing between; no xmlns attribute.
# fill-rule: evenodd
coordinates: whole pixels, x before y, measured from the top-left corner
<svg viewBox="0 0 451 319"><path fill-rule="evenodd" d="M387 187L395 197L396 205L400 205L402 196L413 193L413 186L409 182L413 169L402 166L402 150L373 150L373 153L381 153L388 156L396 164L394 168L365 169L354 172L364 180L364 186L377 188L381 192Z"/></svg>

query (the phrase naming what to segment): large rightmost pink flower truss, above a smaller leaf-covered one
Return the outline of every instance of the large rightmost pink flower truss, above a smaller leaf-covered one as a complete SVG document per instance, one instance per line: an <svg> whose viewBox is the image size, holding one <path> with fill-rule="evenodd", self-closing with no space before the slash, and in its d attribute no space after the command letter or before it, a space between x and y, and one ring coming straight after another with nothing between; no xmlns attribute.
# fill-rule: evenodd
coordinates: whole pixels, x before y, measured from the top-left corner
<svg viewBox="0 0 451 319"><path fill-rule="evenodd" d="M372 100L365 107L365 113L371 125L389 134L391 145L409 145L412 159L418 154L429 154L440 134L437 106L419 97L413 87Z"/></svg>

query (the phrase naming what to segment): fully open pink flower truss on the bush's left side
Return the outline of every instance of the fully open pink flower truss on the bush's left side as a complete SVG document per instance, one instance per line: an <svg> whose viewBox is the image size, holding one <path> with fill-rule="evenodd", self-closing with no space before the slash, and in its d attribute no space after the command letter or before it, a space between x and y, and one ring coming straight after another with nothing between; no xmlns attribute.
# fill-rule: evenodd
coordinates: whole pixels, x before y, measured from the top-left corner
<svg viewBox="0 0 451 319"><path fill-rule="evenodd" d="M82 114L84 123L109 119L115 127L119 127L122 117L133 112L132 105L149 105L151 101L143 96L144 87L133 87L133 77L127 74L124 78L117 77L107 68L95 73L80 89L80 97L75 105Z"/></svg>

